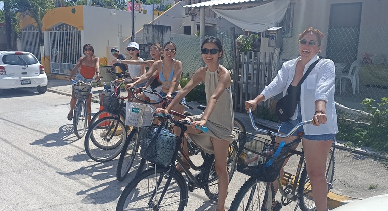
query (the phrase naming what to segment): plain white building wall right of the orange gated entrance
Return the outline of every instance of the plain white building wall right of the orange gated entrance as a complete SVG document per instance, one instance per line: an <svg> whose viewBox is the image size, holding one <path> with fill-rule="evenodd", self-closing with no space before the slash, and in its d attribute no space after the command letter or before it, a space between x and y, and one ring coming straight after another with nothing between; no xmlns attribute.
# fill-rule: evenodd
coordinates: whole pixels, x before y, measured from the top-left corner
<svg viewBox="0 0 388 211"><path fill-rule="evenodd" d="M95 55L106 57L106 46L117 46L119 24L122 26L122 36L132 33L132 13L114 9L84 6L84 37L83 44L93 45ZM115 13L115 15L111 14ZM135 32L152 20L152 16L135 12ZM110 53L110 52L108 52Z"/></svg>

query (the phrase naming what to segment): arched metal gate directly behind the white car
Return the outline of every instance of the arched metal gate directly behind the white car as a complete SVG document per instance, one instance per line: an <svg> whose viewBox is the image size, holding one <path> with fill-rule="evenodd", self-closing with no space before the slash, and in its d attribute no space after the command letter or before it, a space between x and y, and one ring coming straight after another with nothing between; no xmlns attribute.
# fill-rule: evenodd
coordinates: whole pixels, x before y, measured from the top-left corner
<svg viewBox="0 0 388 211"><path fill-rule="evenodd" d="M41 62L40 57L40 45L39 45L39 33L38 29L30 25L22 30L22 46L23 51L30 52L35 55L35 57Z"/></svg>

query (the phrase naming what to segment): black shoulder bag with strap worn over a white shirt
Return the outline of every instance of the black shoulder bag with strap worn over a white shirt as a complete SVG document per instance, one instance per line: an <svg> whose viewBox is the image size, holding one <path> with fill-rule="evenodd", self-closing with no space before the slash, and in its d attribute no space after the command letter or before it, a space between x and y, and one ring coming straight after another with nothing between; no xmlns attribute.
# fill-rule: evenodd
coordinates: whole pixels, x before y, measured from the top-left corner
<svg viewBox="0 0 388 211"><path fill-rule="evenodd" d="M302 79L300 79L298 86L300 86L303 81L307 78L308 74L310 74L311 70L314 69L315 65L319 62L320 59L316 60L312 63L306 73L303 75ZM286 122L292 115L295 113L296 109L296 101L297 96L295 94L287 94L286 96L279 99L276 103L276 116L278 116L279 120L282 122Z"/></svg>

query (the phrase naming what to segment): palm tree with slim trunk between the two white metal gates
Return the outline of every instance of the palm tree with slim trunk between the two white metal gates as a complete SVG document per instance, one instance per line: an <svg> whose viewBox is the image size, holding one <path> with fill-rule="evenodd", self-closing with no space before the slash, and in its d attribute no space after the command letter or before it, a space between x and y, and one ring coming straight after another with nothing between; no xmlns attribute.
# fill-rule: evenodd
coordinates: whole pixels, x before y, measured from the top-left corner
<svg viewBox="0 0 388 211"><path fill-rule="evenodd" d="M10 0L7 0L10 1ZM12 0L11 0L12 1ZM43 17L49 10L55 8L54 0L13 0L13 8L20 12L22 18L27 16L34 19L38 29L40 55L44 57Z"/></svg>

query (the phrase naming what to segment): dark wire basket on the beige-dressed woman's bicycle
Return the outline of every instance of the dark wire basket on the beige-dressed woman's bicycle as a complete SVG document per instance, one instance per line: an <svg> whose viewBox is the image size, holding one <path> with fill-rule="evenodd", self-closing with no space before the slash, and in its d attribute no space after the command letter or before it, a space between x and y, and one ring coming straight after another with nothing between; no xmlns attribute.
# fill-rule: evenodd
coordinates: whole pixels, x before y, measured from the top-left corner
<svg viewBox="0 0 388 211"><path fill-rule="evenodd" d="M174 162L182 139L171 133L161 133L142 127L140 156L151 163L169 165Z"/></svg>

